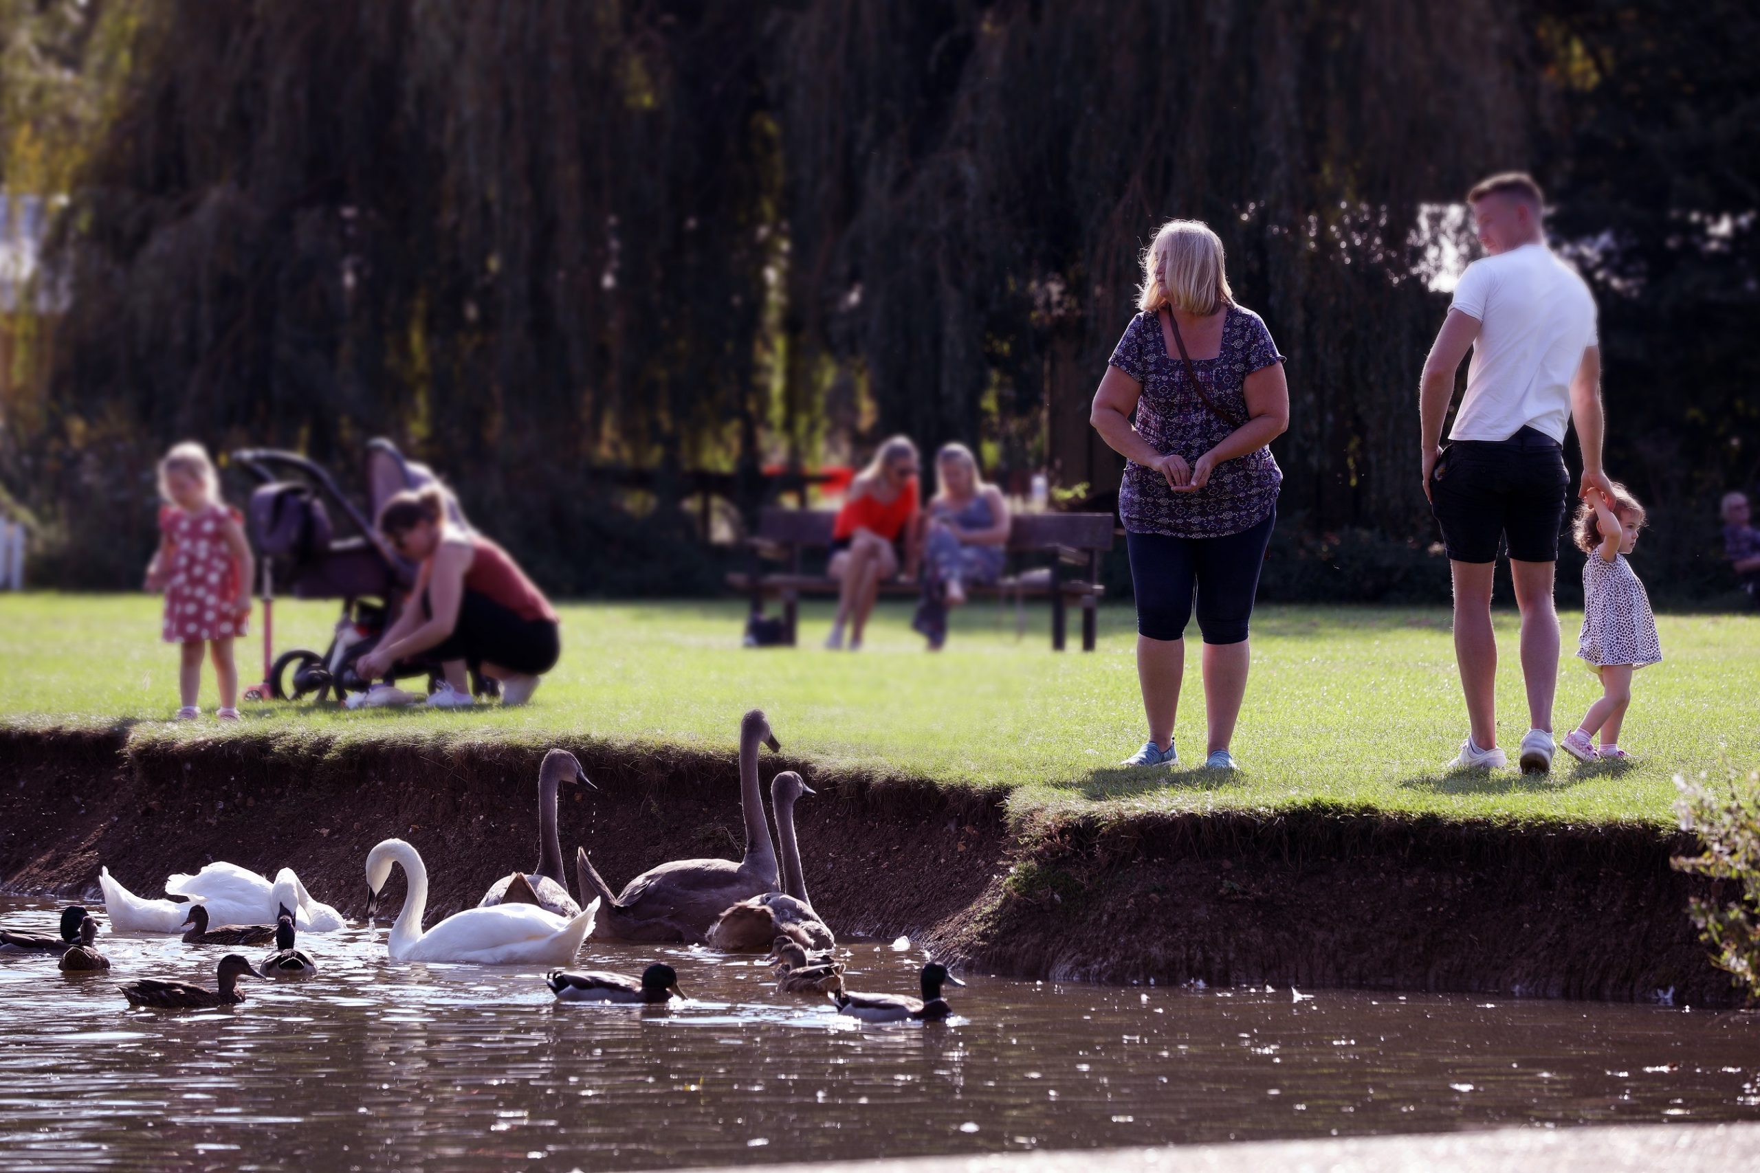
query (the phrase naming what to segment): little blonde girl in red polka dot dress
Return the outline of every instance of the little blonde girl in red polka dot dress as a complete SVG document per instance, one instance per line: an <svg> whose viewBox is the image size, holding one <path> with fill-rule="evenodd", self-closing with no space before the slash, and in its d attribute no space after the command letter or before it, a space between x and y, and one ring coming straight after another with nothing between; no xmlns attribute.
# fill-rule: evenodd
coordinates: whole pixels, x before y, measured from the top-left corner
<svg viewBox="0 0 1760 1173"><path fill-rule="evenodd" d="M255 561L243 517L220 501L218 477L208 450L180 443L158 463L158 552L146 566L146 589L165 593L164 638L183 649L178 721L201 716L202 651L213 654L222 721L238 721L238 663L232 640L250 619Z"/></svg>

